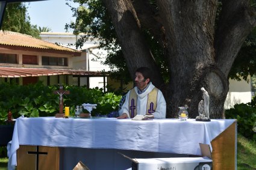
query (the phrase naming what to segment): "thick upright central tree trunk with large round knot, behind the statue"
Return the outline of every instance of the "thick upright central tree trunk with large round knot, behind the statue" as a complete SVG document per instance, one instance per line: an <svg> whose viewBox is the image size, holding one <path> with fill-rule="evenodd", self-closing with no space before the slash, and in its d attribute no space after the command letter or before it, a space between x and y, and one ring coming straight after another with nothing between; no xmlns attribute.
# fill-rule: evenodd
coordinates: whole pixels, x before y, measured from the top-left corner
<svg viewBox="0 0 256 170"><path fill-rule="evenodd" d="M168 116L174 117L178 106L187 105L195 118L204 87L210 96L211 117L222 117L228 83L214 61L217 1L160 1L158 7L160 16L170 21L164 22L172 64L168 101L173 112Z"/></svg>

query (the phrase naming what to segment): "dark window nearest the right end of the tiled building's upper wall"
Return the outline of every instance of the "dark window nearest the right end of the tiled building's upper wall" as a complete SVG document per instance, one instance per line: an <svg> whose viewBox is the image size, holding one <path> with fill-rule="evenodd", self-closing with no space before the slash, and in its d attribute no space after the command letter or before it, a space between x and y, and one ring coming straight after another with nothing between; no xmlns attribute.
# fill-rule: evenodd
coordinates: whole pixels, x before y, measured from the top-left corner
<svg viewBox="0 0 256 170"><path fill-rule="evenodd" d="M67 66L67 58L54 57L54 56L42 56L42 65Z"/></svg>

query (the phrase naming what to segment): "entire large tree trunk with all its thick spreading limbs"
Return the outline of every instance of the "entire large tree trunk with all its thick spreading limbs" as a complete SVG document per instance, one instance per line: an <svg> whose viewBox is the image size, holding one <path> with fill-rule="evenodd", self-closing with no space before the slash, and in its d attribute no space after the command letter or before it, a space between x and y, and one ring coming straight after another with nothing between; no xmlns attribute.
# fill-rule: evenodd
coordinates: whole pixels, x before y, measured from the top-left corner
<svg viewBox="0 0 256 170"><path fill-rule="evenodd" d="M223 117L229 70L255 25L249 0L222 1L218 23L217 0L159 0L154 4L157 12L149 1L104 1L131 75L136 67L151 67L157 87L163 80L140 32L141 25L162 43L170 73L169 84L162 89L168 118L176 117L178 106L184 105L189 106L190 118L195 118L201 87L210 96L210 118Z"/></svg>

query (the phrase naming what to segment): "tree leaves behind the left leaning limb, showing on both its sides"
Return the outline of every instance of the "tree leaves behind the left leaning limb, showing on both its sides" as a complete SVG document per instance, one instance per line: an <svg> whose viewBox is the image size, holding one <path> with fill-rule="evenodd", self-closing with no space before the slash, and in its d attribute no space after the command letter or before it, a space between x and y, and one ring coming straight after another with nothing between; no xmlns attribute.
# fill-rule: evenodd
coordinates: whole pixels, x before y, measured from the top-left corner
<svg viewBox="0 0 256 170"><path fill-rule="evenodd" d="M98 0L66 1L73 1L81 4L78 8L71 8L73 16L76 17L76 22L66 24L65 26L66 30L72 28L76 35L80 32L86 33L86 35L78 39L76 46L83 46L83 43L89 40L89 38L97 38L100 44L99 47L108 52L108 55L102 64L110 67L110 77L116 80L122 80L124 84L131 82L130 72L128 71L122 49L117 40L111 17L107 12L104 3ZM157 8L154 5L152 7ZM151 48L155 61L159 65L161 76L163 76L164 80L167 82L169 80L167 58L164 57L163 47L160 46L161 42L157 41L145 28L142 28L142 32Z"/></svg>

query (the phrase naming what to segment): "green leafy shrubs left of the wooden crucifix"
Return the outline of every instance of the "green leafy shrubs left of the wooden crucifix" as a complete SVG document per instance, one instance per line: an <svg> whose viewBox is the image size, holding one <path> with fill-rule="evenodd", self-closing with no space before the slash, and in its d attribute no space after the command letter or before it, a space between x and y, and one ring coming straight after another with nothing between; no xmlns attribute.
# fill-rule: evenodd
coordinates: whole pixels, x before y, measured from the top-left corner
<svg viewBox="0 0 256 170"><path fill-rule="evenodd" d="M20 86L10 83L0 84L0 120L7 118L11 109L13 118L20 115L27 117L54 116L52 112L42 111L42 107L51 105L57 111L58 97L52 94L52 87L43 84ZM40 108L40 109L39 109Z"/></svg>

